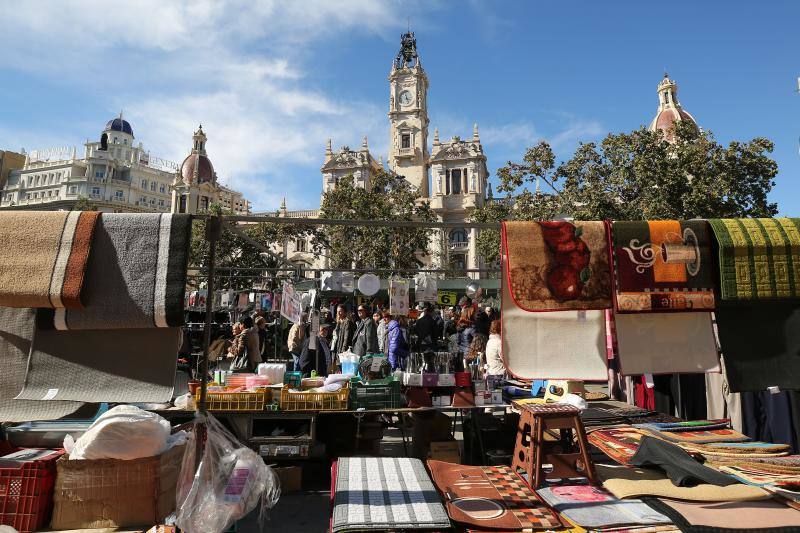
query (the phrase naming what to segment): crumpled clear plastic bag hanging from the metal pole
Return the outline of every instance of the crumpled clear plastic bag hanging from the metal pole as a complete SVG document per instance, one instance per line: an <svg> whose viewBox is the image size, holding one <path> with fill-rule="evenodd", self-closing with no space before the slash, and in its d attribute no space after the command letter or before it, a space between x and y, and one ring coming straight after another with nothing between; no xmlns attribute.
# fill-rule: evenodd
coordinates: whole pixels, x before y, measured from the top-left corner
<svg viewBox="0 0 800 533"><path fill-rule="evenodd" d="M195 469L196 442L203 434L205 447ZM263 523L281 492L272 468L209 414L197 415L187 444L176 495L177 526L187 533L221 533L259 500Z"/></svg>

